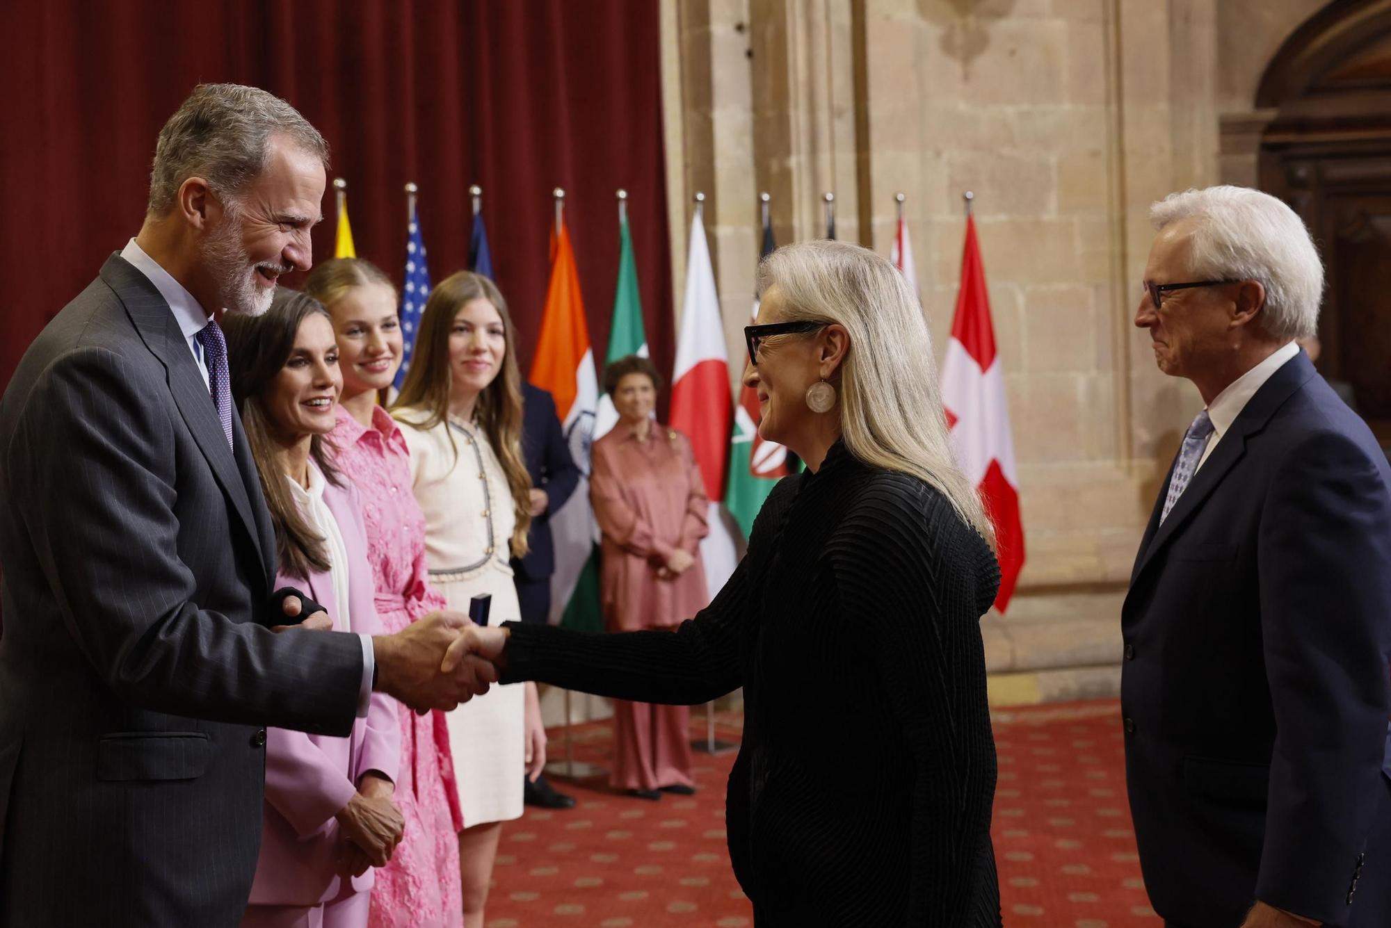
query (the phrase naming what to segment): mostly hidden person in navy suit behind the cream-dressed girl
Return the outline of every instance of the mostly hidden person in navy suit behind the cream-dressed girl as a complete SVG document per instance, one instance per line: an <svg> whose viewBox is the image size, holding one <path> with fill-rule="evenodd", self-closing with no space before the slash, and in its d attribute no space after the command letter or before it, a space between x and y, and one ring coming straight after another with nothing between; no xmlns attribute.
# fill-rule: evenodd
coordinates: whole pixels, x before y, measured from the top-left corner
<svg viewBox="0 0 1391 928"><path fill-rule="evenodd" d="M538 386L522 381L522 456L531 474L530 550L512 558L523 622L545 622L551 615L551 575L555 572L555 543L551 513L565 506L580 481L580 468L570 457L555 400ZM570 809L574 799L558 793L545 774L526 781L526 802L542 809Z"/></svg>

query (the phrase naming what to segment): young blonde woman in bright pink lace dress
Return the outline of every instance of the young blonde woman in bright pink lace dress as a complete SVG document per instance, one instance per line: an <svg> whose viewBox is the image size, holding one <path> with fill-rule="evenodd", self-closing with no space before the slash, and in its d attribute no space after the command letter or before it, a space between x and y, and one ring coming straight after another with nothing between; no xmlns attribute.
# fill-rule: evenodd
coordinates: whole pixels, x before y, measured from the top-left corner
<svg viewBox="0 0 1391 928"><path fill-rule="evenodd" d="M356 258L319 264L305 289L328 307L338 336L344 392L337 445L339 471L353 481L367 525L367 558L377 581L377 614L387 633L445 607L426 582L426 522L410 492L405 439L377 404L401 367L396 290L377 267ZM406 820L396 852L377 871L371 928L460 928L459 813L444 714L398 706L401 770L395 802Z"/></svg>

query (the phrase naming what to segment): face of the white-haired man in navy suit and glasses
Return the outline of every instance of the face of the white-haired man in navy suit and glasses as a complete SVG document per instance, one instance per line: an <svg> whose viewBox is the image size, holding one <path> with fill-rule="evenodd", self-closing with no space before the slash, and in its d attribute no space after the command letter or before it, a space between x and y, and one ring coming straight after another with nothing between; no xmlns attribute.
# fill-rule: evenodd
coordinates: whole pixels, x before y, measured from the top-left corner
<svg viewBox="0 0 1391 928"><path fill-rule="evenodd" d="M1187 283L1195 279L1189 251L1199 219L1187 218L1164 226L1145 264L1148 283ZM1205 279L1205 278L1198 278ZM1227 363L1231 353L1232 288L1200 286L1170 290L1153 306L1149 293L1135 310L1136 328L1149 329L1155 363L1170 376L1202 379Z"/></svg>

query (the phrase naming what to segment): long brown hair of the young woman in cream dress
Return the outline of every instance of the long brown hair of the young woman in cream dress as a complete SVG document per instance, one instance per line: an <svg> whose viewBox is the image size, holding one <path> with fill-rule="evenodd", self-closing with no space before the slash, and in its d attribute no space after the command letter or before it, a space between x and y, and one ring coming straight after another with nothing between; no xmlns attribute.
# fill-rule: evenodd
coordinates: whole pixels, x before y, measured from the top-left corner
<svg viewBox="0 0 1391 928"><path fill-rule="evenodd" d="M487 300L502 317L502 331L506 351L502 356L502 370L492 382L479 393L474 407L479 425L488 436L494 453L502 463L512 492L512 510L516 513L516 528L512 531L512 554L522 557L527 552L526 535L531 528L531 475L522 457L522 372L517 368L516 329L508 303L497 285L488 278L459 271L430 292L426 308L420 314L420 328L416 332L416 347L410 354L410 368L401 385L401 396L392 403L392 410L412 408L423 411L427 418L416 422L420 428L435 428L449 418L449 393L453 386L453 372L449 365L449 329L459 310L469 300ZM449 436L453 445L453 435ZM455 446L455 454L459 449Z"/></svg>

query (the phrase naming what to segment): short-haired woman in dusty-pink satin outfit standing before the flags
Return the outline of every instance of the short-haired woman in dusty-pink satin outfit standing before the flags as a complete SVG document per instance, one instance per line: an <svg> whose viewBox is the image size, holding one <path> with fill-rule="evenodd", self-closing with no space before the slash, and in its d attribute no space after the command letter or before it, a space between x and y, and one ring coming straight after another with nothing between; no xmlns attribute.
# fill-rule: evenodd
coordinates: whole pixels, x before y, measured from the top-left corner
<svg viewBox="0 0 1391 928"><path fill-rule="evenodd" d="M612 632L676 628L709 602L700 539L709 502L690 440L652 420L661 378L645 357L609 364L619 422L594 443L590 499L602 539L604 621ZM609 782L643 799L690 795L686 706L613 702Z"/></svg>

